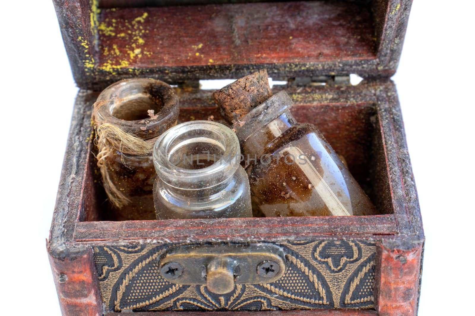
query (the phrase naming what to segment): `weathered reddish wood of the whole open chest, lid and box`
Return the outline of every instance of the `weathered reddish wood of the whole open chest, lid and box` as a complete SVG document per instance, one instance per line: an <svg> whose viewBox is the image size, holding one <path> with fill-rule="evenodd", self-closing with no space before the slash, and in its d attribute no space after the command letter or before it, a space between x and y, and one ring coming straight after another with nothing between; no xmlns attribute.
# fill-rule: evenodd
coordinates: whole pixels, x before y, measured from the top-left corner
<svg viewBox="0 0 475 316"><path fill-rule="evenodd" d="M110 2L103 4L110 7ZM252 314L415 315L424 234L397 94L388 80L399 62L411 2L279 1L101 9L98 1L54 0L76 83L89 89L81 90L76 99L47 245L63 314L103 313L92 266L94 246L359 238L379 243L376 310ZM104 221L111 210L95 181L98 175L90 153L94 148L90 109L97 97L90 90L133 76L178 83L238 78L261 68L283 80L349 73L370 79L356 87L285 89L296 103L294 116L322 130L385 215L192 220L185 225ZM210 93L181 91L179 120L209 115L219 119ZM66 283L59 282L61 274L68 276Z"/></svg>

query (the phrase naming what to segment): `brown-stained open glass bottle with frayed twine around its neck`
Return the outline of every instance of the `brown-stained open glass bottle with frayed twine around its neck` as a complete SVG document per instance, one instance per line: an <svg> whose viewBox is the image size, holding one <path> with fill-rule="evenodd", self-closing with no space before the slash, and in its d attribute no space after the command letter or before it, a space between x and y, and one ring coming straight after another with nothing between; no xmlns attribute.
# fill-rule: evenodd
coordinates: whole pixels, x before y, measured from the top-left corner
<svg viewBox="0 0 475 316"><path fill-rule="evenodd" d="M178 113L175 90L163 81L125 79L101 92L93 122L98 165L113 205L107 219L155 219L152 148L156 138L176 124Z"/></svg>

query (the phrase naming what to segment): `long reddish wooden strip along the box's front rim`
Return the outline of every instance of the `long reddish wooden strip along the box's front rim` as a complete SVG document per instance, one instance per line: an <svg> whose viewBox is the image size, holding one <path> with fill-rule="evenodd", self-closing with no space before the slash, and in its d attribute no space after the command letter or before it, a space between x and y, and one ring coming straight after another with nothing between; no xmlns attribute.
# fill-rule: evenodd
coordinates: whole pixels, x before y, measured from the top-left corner
<svg viewBox="0 0 475 316"><path fill-rule="evenodd" d="M392 235L394 215L349 217L258 217L160 221L79 222L76 242L151 239L165 242L259 241L352 234Z"/></svg>

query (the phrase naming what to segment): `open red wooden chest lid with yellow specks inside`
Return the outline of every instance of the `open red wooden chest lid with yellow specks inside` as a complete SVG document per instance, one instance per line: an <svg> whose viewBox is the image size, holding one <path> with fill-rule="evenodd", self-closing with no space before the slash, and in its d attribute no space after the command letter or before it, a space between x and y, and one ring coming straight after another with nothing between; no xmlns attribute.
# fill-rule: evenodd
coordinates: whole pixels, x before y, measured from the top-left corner
<svg viewBox="0 0 475 316"><path fill-rule="evenodd" d="M285 80L350 73L389 78L411 3L54 0L76 83L91 90L130 77L173 84L262 68Z"/></svg>

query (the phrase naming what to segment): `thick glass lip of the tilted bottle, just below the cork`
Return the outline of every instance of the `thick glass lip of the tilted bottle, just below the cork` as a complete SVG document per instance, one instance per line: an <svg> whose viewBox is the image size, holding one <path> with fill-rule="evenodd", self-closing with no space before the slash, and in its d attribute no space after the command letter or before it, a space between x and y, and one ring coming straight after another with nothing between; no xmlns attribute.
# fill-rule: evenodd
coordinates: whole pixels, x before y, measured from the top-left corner
<svg viewBox="0 0 475 316"><path fill-rule="evenodd" d="M279 117L294 105L292 99L285 91L274 94L266 101L253 108L245 116L241 117L240 122L233 125L237 138L240 142L245 141L257 130L266 126L268 123Z"/></svg>

